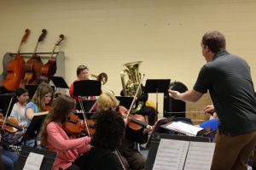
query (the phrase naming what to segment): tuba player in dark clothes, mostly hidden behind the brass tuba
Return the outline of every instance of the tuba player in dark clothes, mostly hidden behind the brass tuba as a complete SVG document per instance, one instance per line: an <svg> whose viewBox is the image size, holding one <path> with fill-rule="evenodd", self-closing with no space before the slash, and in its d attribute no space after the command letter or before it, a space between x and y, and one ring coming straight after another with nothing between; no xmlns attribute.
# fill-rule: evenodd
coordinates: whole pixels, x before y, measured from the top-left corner
<svg viewBox="0 0 256 170"><path fill-rule="evenodd" d="M142 109L137 111L136 114L148 116L148 124L153 126L154 122L156 121L156 113L154 111L154 108L152 106L146 105L146 102L148 101L148 93L145 93L145 87L142 85L142 94L136 97L137 103L142 101L143 106ZM121 91L121 96L123 96L123 90Z"/></svg>

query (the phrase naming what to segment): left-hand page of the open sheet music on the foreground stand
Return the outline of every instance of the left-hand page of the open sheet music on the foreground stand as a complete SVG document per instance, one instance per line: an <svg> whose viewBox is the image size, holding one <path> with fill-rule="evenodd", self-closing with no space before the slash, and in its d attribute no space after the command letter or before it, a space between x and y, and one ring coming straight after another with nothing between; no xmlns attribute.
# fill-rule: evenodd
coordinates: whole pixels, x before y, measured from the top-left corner
<svg viewBox="0 0 256 170"><path fill-rule="evenodd" d="M189 141L160 139L153 170L183 170Z"/></svg>

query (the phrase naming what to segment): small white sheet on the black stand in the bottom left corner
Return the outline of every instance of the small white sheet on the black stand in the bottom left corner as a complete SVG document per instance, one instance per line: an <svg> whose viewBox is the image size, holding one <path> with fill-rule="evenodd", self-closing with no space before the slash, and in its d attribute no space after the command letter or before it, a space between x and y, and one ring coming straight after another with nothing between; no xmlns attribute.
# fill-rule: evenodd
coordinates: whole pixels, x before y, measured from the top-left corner
<svg viewBox="0 0 256 170"><path fill-rule="evenodd" d="M26 158L23 170L40 170L44 155L30 152Z"/></svg>

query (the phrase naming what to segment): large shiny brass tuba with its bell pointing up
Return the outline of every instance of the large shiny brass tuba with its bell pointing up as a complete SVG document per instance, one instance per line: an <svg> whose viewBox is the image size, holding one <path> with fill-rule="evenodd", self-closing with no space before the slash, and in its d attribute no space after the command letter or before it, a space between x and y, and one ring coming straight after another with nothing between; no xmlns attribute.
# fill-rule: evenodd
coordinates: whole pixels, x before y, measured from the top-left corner
<svg viewBox="0 0 256 170"><path fill-rule="evenodd" d="M127 67L121 72L121 81L123 86L124 96L134 96L136 94L137 88L140 86L141 74L139 72L139 65L143 61L135 61L131 63L126 63L124 66ZM128 76L127 82L125 82L125 76ZM142 88L139 89L137 95L143 94ZM134 105L131 113L136 113L140 111L143 107L143 101L139 101L137 105Z"/></svg>

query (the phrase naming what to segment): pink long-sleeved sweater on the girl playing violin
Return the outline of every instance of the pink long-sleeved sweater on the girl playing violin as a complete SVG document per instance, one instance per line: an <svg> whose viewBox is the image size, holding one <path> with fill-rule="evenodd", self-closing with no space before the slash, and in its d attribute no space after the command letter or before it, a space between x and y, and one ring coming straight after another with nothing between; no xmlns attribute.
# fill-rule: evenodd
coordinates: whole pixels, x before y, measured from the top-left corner
<svg viewBox="0 0 256 170"><path fill-rule="evenodd" d="M57 152L53 170L66 169L79 157L79 154L90 150L90 138L74 139L56 122L49 122L47 130L47 146L49 150Z"/></svg>

